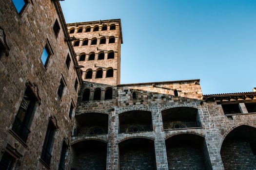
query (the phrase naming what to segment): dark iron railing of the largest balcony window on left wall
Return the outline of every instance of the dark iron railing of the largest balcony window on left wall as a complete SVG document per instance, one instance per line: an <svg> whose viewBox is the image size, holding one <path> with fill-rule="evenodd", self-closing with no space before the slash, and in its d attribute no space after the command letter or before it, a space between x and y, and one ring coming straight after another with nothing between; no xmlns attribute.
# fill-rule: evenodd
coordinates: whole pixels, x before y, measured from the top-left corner
<svg viewBox="0 0 256 170"><path fill-rule="evenodd" d="M29 129L22 123L22 121L16 116L12 130L24 141L27 141Z"/></svg>

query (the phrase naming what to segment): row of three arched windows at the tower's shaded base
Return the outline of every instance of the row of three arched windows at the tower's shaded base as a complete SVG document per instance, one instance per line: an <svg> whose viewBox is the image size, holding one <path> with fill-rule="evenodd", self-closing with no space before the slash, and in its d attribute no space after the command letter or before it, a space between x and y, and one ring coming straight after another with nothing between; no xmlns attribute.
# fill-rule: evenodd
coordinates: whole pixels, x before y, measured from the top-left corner
<svg viewBox="0 0 256 170"><path fill-rule="evenodd" d="M96 88L94 91L91 91L89 88L86 88L83 91L82 101L89 101L91 92L93 93L93 100L94 101L101 100L101 89L100 88ZM112 99L112 96L113 96L112 88L111 87L106 88L104 99L105 100Z"/></svg>

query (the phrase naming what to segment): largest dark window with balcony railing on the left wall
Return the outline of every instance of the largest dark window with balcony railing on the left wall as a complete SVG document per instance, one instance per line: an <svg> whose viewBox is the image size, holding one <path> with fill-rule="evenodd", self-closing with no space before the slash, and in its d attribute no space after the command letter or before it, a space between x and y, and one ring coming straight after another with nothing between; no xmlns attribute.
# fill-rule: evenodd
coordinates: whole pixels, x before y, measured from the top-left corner
<svg viewBox="0 0 256 170"><path fill-rule="evenodd" d="M36 97L32 90L27 87L23 99L20 103L20 108L15 117L12 130L26 142L28 134L30 133L29 127L34 114L34 108L36 104Z"/></svg>

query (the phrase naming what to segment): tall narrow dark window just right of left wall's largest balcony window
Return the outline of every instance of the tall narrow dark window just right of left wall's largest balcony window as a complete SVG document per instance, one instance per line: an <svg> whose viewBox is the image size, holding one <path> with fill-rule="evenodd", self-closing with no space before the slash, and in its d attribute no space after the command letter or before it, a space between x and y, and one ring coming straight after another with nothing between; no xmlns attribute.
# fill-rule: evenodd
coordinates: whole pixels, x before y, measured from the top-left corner
<svg viewBox="0 0 256 170"><path fill-rule="evenodd" d="M46 135L43 142L43 148L41 153L41 159L47 164L50 165L51 162L51 152L52 152L52 144L53 144L53 137L55 133L55 126L53 122L49 121Z"/></svg>

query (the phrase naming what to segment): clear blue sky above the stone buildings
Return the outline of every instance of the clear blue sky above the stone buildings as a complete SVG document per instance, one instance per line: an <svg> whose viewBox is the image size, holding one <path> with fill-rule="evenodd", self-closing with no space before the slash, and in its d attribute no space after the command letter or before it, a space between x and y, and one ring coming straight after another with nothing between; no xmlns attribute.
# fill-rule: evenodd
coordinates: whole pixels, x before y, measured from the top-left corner
<svg viewBox="0 0 256 170"><path fill-rule="evenodd" d="M65 0L67 23L121 19L121 84L200 79L256 87L256 0Z"/></svg>

